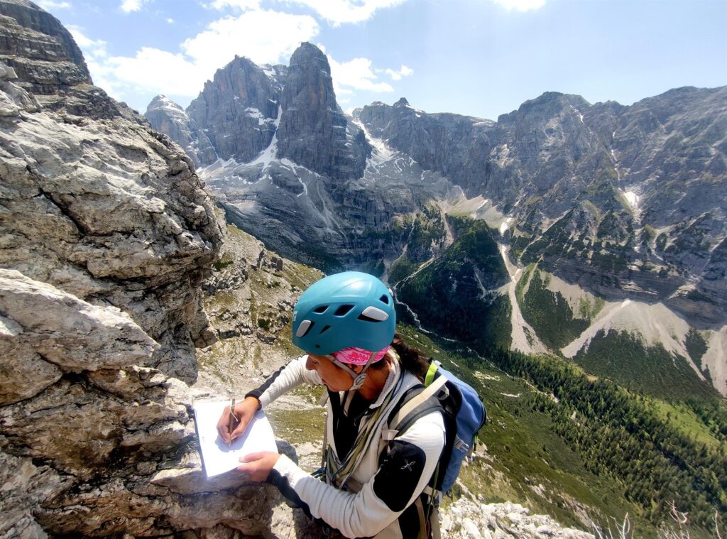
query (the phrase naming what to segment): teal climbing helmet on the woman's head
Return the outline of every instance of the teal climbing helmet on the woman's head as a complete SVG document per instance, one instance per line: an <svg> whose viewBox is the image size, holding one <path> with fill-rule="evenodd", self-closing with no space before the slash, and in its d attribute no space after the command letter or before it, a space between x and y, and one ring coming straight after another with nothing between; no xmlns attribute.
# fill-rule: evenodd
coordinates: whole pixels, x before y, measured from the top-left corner
<svg viewBox="0 0 727 539"><path fill-rule="evenodd" d="M391 292L358 271L313 283L293 309L293 344L308 354L325 356L351 347L379 351L391 344L395 328Z"/></svg>

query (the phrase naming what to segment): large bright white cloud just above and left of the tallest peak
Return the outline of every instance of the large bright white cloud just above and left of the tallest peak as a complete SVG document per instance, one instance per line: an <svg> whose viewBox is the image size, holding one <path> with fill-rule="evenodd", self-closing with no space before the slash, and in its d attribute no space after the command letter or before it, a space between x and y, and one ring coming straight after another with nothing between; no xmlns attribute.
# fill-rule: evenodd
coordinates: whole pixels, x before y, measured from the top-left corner
<svg viewBox="0 0 727 539"><path fill-rule="evenodd" d="M204 81L235 55L258 64L288 63L301 41L310 41L318 31L318 23L309 15L245 12L210 23L182 42L179 52L142 47L133 57L124 57L109 56L104 41L72 29L95 84L137 108L159 93L180 101L196 97Z"/></svg>

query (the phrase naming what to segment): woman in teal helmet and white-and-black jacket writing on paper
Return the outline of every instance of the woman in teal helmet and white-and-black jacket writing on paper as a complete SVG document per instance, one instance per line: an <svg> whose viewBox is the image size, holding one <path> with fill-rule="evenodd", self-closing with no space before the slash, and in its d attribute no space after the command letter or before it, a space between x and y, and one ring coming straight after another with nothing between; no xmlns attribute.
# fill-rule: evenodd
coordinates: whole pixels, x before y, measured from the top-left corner
<svg viewBox="0 0 727 539"><path fill-rule="evenodd" d="M329 396L325 482L274 452L246 455L238 471L276 485L346 538L427 537L420 496L441 455L444 424L441 411L429 407L406 429L389 430L390 416L408 392L422 387L428 367L395 335L390 291L379 279L355 271L321 279L294 308L293 343L307 355L236 404L240 422L232 434L229 409L217 430L230 442L244 433L257 410L286 391L301 383L324 384Z"/></svg>

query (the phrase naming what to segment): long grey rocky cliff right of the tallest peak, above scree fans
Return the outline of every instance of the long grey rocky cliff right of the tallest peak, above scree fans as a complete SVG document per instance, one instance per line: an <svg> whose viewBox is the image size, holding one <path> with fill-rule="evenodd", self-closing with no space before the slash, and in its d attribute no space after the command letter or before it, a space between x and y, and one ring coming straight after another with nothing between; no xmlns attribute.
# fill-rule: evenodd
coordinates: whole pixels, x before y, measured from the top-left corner
<svg viewBox="0 0 727 539"><path fill-rule="evenodd" d="M726 96L682 88L626 107L547 92L497 123L399 100L358 117L514 221L518 261L542 260L607 298L664 301L710 327L727 320L712 263L727 234Z"/></svg>

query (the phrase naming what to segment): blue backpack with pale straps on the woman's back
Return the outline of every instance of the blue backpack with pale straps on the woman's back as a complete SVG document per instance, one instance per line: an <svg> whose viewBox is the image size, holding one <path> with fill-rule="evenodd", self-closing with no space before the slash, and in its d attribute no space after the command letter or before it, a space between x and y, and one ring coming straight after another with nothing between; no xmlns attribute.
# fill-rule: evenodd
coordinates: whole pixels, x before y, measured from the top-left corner
<svg viewBox="0 0 727 539"><path fill-rule="evenodd" d="M482 399L467 383L459 380L441 364L433 361L425 378L425 387L418 386L405 395L403 404L390 415L390 431L401 434L417 418L441 407L445 443L439 463L425 495L429 506L437 506L454 485L462 462L475 447L475 436L486 423L487 412Z"/></svg>

